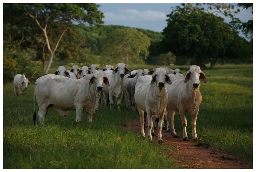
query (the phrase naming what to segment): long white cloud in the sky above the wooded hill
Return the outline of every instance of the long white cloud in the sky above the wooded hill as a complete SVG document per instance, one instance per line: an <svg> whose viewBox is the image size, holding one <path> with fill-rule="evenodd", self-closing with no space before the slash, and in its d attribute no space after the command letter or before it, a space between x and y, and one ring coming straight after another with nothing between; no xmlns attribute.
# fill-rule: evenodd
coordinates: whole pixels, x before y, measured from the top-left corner
<svg viewBox="0 0 256 172"><path fill-rule="evenodd" d="M138 11L135 9L120 9L119 14L114 14L112 12L105 12L105 21L119 21L119 20L126 20L126 21L158 21L166 19L166 14L159 11Z"/></svg>

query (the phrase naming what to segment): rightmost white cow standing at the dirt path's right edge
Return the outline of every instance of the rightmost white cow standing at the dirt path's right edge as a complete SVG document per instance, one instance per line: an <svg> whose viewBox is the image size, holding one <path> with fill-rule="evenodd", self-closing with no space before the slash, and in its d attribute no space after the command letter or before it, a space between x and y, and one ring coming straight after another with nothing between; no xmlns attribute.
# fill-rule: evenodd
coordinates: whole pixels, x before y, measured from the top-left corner
<svg viewBox="0 0 256 172"><path fill-rule="evenodd" d="M198 139L195 129L196 119L199 105L202 101L202 95L199 90L199 81L202 80L206 83L207 79L199 66L190 66L184 79L182 76L170 76L170 78L172 85L166 86L168 92L168 111L165 113L165 118L167 123L171 126L169 128L171 130L171 135L179 137L175 132L173 120L175 113L180 114L183 126L182 140L188 140L186 131L187 119L185 117L185 113L188 112L191 115L192 138L195 141Z"/></svg>

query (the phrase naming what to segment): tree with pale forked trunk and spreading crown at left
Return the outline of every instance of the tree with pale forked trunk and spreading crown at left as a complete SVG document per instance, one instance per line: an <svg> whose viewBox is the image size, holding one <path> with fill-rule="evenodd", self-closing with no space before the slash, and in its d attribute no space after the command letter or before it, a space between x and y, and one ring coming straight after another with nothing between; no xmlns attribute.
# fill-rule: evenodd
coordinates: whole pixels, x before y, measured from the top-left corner
<svg viewBox="0 0 256 172"><path fill-rule="evenodd" d="M45 73L48 73L63 35L71 26L85 23L89 25L104 23L102 21L104 17L103 13L98 10L99 5L93 3L19 3L7 4L7 6L11 6L13 11L17 10L21 12L22 16L25 16L24 13L26 13L41 29L50 53L50 59ZM65 23L65 25L63 25L62 31L58 33L57 42L51 44L51 38L48 33L56 23Z"/></svg>

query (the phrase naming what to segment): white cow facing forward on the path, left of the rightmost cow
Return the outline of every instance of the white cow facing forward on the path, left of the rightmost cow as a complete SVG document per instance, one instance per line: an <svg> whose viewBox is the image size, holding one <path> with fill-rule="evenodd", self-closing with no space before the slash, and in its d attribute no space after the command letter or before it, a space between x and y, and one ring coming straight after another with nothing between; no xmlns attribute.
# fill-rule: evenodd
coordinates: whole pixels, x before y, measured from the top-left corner
<svg viewBox="0 0 256 172"><path fill-rule="evenodd" d="M172 84L165 68L155 69L153 75L145 75L137 79L135 85L135 103L140 114L141 134L145 137L144 132L144 112L148 118L148 138L152 140L151 130L153 128L152 117L159 118L158 123L158 143L162 143L162 123L164 120L167 106L167 91L165 82Z"/></svg>

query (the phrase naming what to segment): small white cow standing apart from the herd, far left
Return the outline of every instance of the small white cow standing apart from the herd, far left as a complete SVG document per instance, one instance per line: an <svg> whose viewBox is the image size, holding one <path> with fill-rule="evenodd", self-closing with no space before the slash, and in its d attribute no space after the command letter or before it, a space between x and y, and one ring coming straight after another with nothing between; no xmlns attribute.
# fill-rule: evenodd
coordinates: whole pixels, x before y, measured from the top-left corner
<svg viewBox="0 0 256 172"><path fill-rule="evenodd" d="M23 74L16 74L13 78L13 91L14 94L17 95L17 89L19 90L18 95L22 95L25 90L27 90L27 86L30 85L30 82Z"/></svg>

